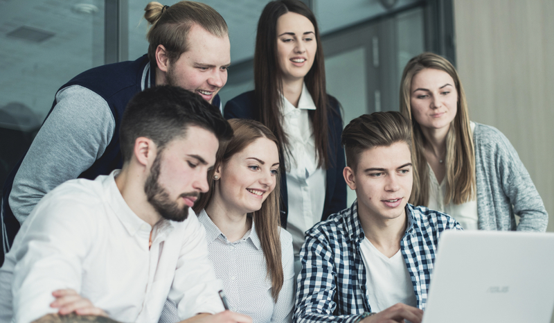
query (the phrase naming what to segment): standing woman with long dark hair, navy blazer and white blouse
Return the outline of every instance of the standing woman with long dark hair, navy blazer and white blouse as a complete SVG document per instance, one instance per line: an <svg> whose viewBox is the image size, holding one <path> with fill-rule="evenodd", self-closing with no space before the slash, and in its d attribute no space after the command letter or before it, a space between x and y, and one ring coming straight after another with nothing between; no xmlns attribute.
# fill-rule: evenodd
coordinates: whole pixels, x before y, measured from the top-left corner
<svg viewBox="0 0 554 323"><path fill-rule="evenodd" d="M265 6L258 21L254 80L255 90L229 101L224 116L255 119L276 135L283 171L281 225L292 234L298 256L304 232L346 208L339 102L325 91L319 29L301 1Z"/></svg>

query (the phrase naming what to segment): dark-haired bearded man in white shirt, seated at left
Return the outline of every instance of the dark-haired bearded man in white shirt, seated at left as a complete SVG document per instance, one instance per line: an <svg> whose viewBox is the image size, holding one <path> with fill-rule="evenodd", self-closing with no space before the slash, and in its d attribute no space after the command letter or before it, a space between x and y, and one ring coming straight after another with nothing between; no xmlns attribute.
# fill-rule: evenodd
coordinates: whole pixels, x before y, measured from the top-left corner
<svg viewBox="0 0 554 323"><path fill-rule="evenodd" d="M231 125L180 87L145 89L120 126L123 168L75 179L30 213L0 268L0 323L251 323L224 311L192 210Z"/></svg>

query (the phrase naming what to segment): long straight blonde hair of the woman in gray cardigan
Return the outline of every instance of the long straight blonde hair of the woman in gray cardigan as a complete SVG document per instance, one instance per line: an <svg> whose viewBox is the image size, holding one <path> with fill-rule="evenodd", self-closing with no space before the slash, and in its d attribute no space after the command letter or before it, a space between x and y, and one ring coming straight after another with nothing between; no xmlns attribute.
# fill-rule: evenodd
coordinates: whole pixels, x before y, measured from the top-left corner
<svg viewBox="0 0 554 323"><path fill-rule="evenodd" d="M422 53L406 64L400 82L400 112L406 118L411 119L413 125L413 189L410 203L415 205L427 205L429 203L429 167L427 166L427 159L423 155L426 139L420 125L411 117L410 105L411 81L413 76L423 69L445 71L454 80L456 91L458 91L456 117L450 123L450 129L446 137L446 194L444 203L461 204L474 200L476 198L475 152L470 116L467 111L467 101L460 77L447 59L434 53Z"/></svg>

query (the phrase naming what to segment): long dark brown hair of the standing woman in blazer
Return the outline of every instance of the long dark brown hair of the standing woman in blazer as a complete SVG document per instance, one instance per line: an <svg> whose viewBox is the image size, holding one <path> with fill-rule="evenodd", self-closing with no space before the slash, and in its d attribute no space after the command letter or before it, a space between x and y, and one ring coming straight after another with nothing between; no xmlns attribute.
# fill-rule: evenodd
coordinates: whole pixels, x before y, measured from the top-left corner
<svg viewBox="0 0 554 323"><path fill-rule="evenodd" d="M328 138L328 98L325 91L325 64L319 28L316 17L310 8L298 0L278 0L267 3L260 20L256 35L256 51L254 53L254 81L256 94L256 119L267 126L277 137L280 150L287 151L287 134L281 124L281 94L283 93L283 73L280 70L277 57L277 19L287 12L295 12L309 19L314 25L317 42L314 64L304 77L307 90L316 105L316 110L310 110L308 116L314 128L314 143L318 167L330 166ZM281 163L284 169L284 163Z"/></svg>

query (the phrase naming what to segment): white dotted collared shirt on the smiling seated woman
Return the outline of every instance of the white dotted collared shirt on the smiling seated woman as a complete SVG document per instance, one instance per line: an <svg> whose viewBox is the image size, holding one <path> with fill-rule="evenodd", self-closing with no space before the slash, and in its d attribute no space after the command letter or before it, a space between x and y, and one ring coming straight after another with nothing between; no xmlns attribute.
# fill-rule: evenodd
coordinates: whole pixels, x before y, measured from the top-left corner
<svg viewBox="0 0 554 323"><path fill-rule="evenodd" d="M292 237L280 230L283 288L277 302L271 296L271 277L255 223L235 242L227 240L206 211L198 220L206 227L206 239L215 275L223 281L231 311L252 317L253 323L292 322L294 306L294 260Z"/></svg>

